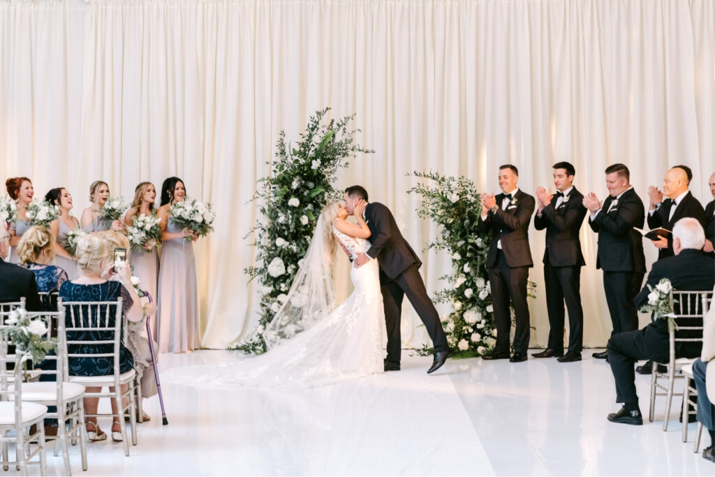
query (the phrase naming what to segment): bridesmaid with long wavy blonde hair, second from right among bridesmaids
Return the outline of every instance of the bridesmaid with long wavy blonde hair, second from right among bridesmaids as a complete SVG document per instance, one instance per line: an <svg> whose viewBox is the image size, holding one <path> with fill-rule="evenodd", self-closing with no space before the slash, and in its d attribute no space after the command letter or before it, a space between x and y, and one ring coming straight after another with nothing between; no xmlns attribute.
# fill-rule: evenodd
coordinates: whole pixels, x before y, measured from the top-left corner
<svg viewBox="0 0 715 477"><path fill-rule="evenodd" d="M134 216L152 215L154 212L154 201L157 199L157 190L151 182L140 182L134 190L134 202L132 207L124 214L124 224L132 225ZM151 250L151 247L149 247ZM129 254L129 263L134 269L133 275L142 282L142 290L149 292L154 300L157 299L157 279L159 278L159 252L157 250L132 250ZM154 324L153 333L157 333L157 325ZM154 338L156 338L154 336Z"/></svg>

